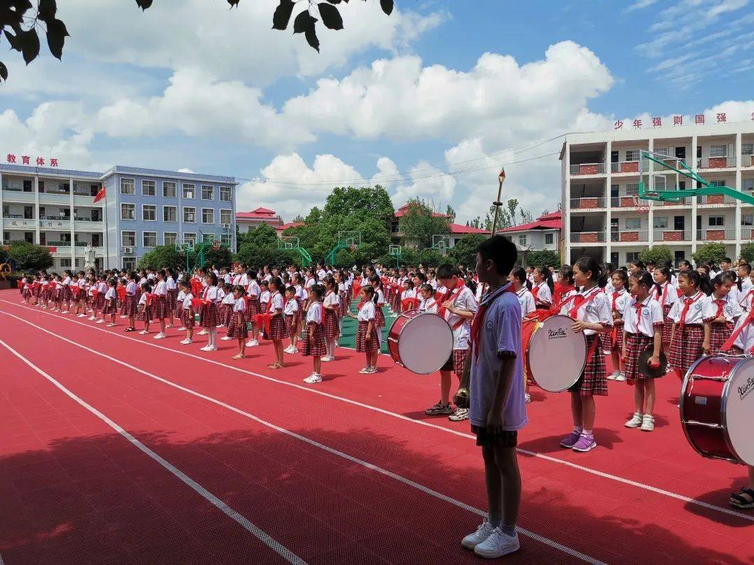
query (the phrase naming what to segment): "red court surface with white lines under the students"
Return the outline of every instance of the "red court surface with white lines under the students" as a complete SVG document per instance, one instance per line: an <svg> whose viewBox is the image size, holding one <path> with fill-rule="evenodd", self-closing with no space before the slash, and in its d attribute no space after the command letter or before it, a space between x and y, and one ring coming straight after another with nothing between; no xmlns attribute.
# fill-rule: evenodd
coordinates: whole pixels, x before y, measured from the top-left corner
<svg viewBox="0 0 754 565"><path fill-rule="evenodd" d="M5 563L461 563L486 508L467 422L425 417L437 377L337 350L267 368L168 330L115 328L0 292L0 556ZM222 334L222 329L220 330ZM752 563L754 512L728 507L743 466L687 444L679 382L657 427L626 429L633 391L597 399L588 454L562 450L569 398L532 389L520 432L521 550L511 563Z"/></svg>

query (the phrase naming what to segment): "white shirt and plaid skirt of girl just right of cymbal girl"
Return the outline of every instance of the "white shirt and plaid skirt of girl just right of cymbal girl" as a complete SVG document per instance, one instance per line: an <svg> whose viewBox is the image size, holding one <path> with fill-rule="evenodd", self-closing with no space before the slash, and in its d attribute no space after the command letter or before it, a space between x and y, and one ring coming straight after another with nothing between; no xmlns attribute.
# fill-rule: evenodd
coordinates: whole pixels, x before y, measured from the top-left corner
<svg viewBox="0 0 754 565"><path fill-rule="evenodd" d="M676 322L676 334L670 343L668 362L683 377L688 368L702 356L704 342L703 292L691 298L681 298L670 309L670 319Z"/></svg>

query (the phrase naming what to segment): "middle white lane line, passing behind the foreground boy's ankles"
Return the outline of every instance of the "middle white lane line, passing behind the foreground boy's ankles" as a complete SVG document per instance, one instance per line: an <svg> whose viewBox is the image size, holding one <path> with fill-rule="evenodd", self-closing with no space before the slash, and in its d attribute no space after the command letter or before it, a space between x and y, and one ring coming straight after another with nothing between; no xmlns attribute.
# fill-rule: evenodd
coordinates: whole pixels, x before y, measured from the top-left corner
<svg viewBox="0 0 754 565"><path fill-rule="evenodd" d="M14 318L17 318L17 316L13 316L12 314L8 314L7 312L5 314L8 315L8 316L12 316ZM18 319L20 319L20 318L18 318ZM34 324L30 324L30 325L34 325ZM454 498L451 498L450 496L446 496L443 493L439 493L439 492L437 492L437 490L432 490L429 487L425 487L425 485L419 484L419 483L417 483L415 481L412 481L409 478L405 478L405 477L403 477L401 475L397 475L396 473L388 471L387 469L382 469L382 467L378 467L378 466L373 465L372 463L369 463L367 461L360 460L357 457L353 457L351 455L348 455L348 454L346 454L346 453L344 453L342 451L339 451L339 450L337 450L337 449L335 449L333 447L329 447L329 446L327 446L325 444L320 444L318 441L314 441L313 439L307 438L305 435L300 435L300 434L297 434L296 432L291 432L289 429L281 428L280 426L277 426L274 423L268 422L267 420L262 420L262 418L254 416L254 414L250 414L247 411L241 410L241 408L236 408L233 405L229 405L226 402L222 402L222 400L213 399L211 396L207 396L205 394L202 394L201 392L197 392L195 390L189 389L189 388L187 388L185 386L182 386L182 385L180 385L178 383L173 383L172 380L167 380L167 379L165 379L163 377L159 377L156 374L150 373L149 371L144 371L143 369L140 369L138 367L134 367L133 365L130 365L127 362L121 361L120 359L115 359L114 357L106 355L105 353L100 353L97 350L90 349L90 347L86 347L85 345L77 344L77 343L75 343L75 341L71 341L71 340L67 339L66 337L62 337L60 335L53 334L51 331L47 331L44 328L39 328L39 329L41 329L42 331L47 332L48 334L53 335L54 337L57 337L58 339L60 339L62 341L66 341L69 344L75 345L76 347L80 347L83 350L86 350L86 351L88 351L90 353L93 353L94 355L97 355L97 356L100 356L100 357L104 357L105 359L107 359L107 360L109 360L111 362L118 363L118 365L123 365L124 367L130 368L132 371L136 371L137 373L143 374L146 377L150 377L152 379L158 380L159 382L167 384L168 386L173 386L174 388L179 389L182 392L186 392L186 393L188 393L190 395L194 395L194 396L196 396L196 397L198 397L200 399L206 400L207 402L212 402L215 405L222 406L222 408L226 408L227 410L229 410L231 412L234 412L235 414L239 414L239 415L241 415L243 417L247 417L250 420L255 421L256 423L262 424L262 426L267 426L268 428L274 429L277 432L280 432L282 434L288 435L291 438L296 438L299 441L304 441L305 443L307 443L309 445L312 445L314 447L317 447L317 448L319 448L321 450L327 451L330 454L336 455L338 457L342 457L345 460L351 461L351 463L357 463L358 465L366 467L366 469L370 469L372 471L381 473L382 475L385 475L386 477L390 477L390 478L394 479L395 481L399 481L399 482L401 482L403 484L407 484L407 485L409 485L409 487L414 487L417 490L421 490L421 492L423 492L423 493L429 494L431 496L434 496L437 499L443 500L444 502L449 502L452 505L458 506L458 508L467 510L468 512L472 512L473 514L476 514L476 515L479 515L479 516L486 516L486 512L483 512L480 509L474 508L474 506L467 505L465 502L461 502L460 500L456 500ZM5 345L5 343L2 340L0 340L0 344ZM8 347L8 345L5 345L5 347ZM10 349L10 347L8 347L8 349ZM18 353L16 353L16 355L19 356L20 359L23 359L23 357L21 357ZM31 365L31 363L29 363L28 361L26 361L26 359L23 359L23 360L27 364ZM32 367L33 366L34 365L32 365ZM37 369L37 370L39 371L39 369ZM45 376L47 376L47 375L45 374ZM51 378L51 377L48 377L48 378ZM62 385L60 385L60 386L62 387ZM63 390L65 390L65 389L63 389ZM81 402L83 402L83 401L81 401ZM593 563L594 565L605 565L604 563L602 563L602 561L596 560L594 557L590 557L587 554L583 554L580 551L576 551L575 549L569 548L567 545L562 545L562 544L560 544L558 542L555 542L552 539L546 538L544 536L540 536L538 533L530 532L529 530L525 530L524 528L517 527L517 526L516 526L516 530L520 534L522 534L523 536L528 536L528 537L530 537L532 539L535 539L538 542L543 543L544 545L549 545L551 548L555 548L555 549L558 549L559 551L562 551L565 554L569 554L572 557L577 557L578 559L581 559L581 560L585 561L586 563Z"/></svg>

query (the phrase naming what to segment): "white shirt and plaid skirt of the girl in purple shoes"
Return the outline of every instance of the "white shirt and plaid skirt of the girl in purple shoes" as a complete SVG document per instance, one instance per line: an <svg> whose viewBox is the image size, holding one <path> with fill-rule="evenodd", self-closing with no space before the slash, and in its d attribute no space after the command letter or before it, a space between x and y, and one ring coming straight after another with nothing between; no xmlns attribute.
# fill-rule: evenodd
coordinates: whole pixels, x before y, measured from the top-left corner
<svg viewBox="0 0 754 565"><path fill-rule="evenodd" d="M605 328L612 328L612 314L610 304L602 289L595 286L583 290L569 302L562 306L561 313L590 324L601 324ZM593 329L585 329L587 338L587 364L578 381L569 391L579 392L581 396L607 396L608 380L605 374L605 356L596 351L599 334Z"/></svg>

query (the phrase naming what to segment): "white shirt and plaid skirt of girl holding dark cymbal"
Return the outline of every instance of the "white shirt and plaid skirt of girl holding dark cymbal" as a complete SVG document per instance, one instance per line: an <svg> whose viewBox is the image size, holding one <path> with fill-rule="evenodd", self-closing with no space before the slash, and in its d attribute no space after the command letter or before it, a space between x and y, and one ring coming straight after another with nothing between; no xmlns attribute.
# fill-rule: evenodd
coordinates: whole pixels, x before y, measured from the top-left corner
<svg viewBox="0 0 754 565"><path fill-rule="evenodd" d="M623 329L626 339L624 373L628 379L643 379L639 371L639 355L648 347L654 347L654 330L663 326L662 307L648 296L643 301L631 298L624 309Z"/></svg>

